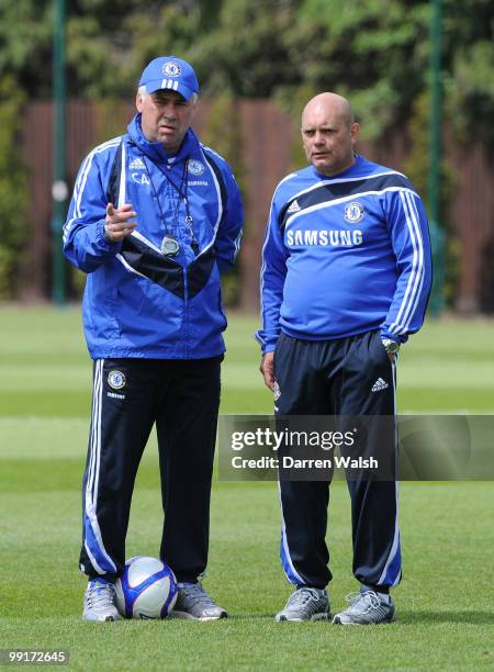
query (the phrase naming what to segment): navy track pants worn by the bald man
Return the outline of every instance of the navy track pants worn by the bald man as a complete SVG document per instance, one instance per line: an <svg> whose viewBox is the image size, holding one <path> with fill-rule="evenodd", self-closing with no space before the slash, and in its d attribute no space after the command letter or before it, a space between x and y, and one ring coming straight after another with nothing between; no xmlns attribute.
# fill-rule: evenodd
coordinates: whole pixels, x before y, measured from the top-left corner
<svg viewBox="0 0 494 672"><path fill-rule="evenodd" d="M274 352L280 396L277 416L395 414L395 363L379 331L338 340L308 341L281 334ZM378 452L370 432L366 452ZM373 444L375 444L373 446ZM395 449L394 435L392 437ZM355 456L357 457L357 456ZM280 480L281 561L289 581L323 589L332 580L325 537L329 483ZM401 579L397 483L348 481L351 497L353 574L383 590Z"/></svg>

